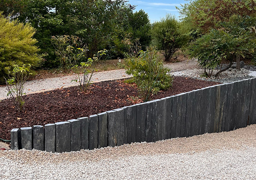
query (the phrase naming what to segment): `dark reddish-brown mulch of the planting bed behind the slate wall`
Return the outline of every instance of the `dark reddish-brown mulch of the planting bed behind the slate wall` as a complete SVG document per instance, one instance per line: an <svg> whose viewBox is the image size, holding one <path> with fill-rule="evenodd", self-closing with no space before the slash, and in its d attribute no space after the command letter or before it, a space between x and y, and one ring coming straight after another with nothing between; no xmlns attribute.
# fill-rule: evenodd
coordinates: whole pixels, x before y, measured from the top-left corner
<svg viewBox="0 0 256 180"><path fill-rule="evenodd" d="M151 100L168 97L219 84L187 77L174 77L172 88L160 91ZM124 80L94 83L87 94L80 93L76 86L25 95L25 110L16 112L10 99L0 102L0 137L10 140L12 128L45 125L81 118L141 103L135 84Z"/></svg>

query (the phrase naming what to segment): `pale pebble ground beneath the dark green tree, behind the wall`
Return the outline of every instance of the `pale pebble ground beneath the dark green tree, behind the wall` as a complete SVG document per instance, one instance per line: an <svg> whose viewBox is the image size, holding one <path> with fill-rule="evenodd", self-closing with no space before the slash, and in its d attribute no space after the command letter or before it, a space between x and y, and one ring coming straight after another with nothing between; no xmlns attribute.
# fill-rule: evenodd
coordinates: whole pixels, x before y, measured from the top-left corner
<svg viewBox="0 0 256 180"><path fill-rule="evenodd" d="M195 79L209 80L209 81L221 82L221 83L229 83L237 80L256 77L255 71L249 71L249 70L246 70L245 68L241 68L241 71L234 71L234 72L224 71L220 73L219 77L217 78L202 77L201 74L203 73L204 73L204 69L202 68L171 72L171 74L174 76L192 77ZM213 74L216 74L216 70L213 71Z"/></svg>

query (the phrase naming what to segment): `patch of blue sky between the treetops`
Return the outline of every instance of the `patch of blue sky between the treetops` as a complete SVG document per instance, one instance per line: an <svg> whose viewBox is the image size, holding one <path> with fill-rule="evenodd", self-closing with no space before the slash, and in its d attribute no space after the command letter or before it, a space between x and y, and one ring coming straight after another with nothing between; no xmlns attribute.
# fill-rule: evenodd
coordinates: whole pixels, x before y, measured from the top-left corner
<svg viewBox="0 0 256 180"><path fill-rule="evenodd" d="M160 21L161 18L165 17L166 13L171 13L177 18L179 13L175 6L180 7L180 4L188 3L185 0L129 0L129 4L138 5L135 11L143 9L148 13L151 22Z"/></svg>

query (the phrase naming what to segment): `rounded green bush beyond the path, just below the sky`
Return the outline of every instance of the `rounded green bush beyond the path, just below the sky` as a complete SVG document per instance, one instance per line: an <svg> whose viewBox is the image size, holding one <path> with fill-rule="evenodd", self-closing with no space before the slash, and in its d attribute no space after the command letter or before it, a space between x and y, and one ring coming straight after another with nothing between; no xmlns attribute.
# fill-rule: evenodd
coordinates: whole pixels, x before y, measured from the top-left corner
<svg viewBox="0 0 256 180"><path fill-rule="evenodd" d="M170 61L172 55L186 45L188 40L189 35L174 16L166 15L160 22L153 24L152 43L162 52L165 61Z"/></svg>

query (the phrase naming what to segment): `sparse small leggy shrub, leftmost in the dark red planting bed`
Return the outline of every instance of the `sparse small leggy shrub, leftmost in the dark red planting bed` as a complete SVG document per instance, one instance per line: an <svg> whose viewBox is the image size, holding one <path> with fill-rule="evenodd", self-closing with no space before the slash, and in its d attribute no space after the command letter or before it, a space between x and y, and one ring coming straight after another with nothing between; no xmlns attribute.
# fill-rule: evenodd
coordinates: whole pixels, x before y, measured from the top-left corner
<svg viewBox="0 0 256 180"><path fill-rule="evenodd" d="M24 64L22 67L14 65L12 72L9 72L11 78L6 80L8 90L7 96L10 95L18 112L24 109L25 101L23 100L22 95L25 94L23 93L23 90L25 82L30 75L29 69L30 64Z"/></svg>

